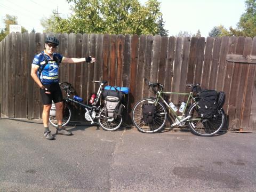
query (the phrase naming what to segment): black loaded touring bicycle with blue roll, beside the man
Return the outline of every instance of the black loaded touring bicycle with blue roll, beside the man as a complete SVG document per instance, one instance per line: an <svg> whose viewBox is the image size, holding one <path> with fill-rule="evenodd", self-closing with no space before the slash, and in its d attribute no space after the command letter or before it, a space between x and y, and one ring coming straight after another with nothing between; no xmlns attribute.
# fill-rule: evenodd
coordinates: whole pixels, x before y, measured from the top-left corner
<svg viewBox="0 0 256 192"><path fill-rule="evenodd" d="M129 93L127 87L105 86L107 81L93 81L99 84L99 89L96 94L92 94L90 104L83 103L83 99L75 94L75 90L68 82L60 83L60 88L65 91L66 98L63 101L63 117L62 126L67 125L71 119L70 103L76 103L85 109L84 117L91 124L98 123L103 130L115 131L123 122L123 111L125 109L123 97ZM72 97L73 96L73 97ZM104 102L101 102L104 99ZM50 110L49 121L54 126L58 126L55 116L55 105L52 103Z"/></svg>

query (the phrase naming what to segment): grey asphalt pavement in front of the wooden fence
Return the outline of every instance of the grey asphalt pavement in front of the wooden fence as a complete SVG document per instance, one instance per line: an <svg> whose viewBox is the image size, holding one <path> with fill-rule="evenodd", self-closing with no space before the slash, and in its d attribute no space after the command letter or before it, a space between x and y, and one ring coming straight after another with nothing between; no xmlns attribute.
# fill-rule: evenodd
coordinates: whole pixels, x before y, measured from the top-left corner
<svg viewBox="0 0 256 192"><path fill-rule="evenodd" d="M0 119L0 191L256 191L255 133L68 129Z"/></svg>

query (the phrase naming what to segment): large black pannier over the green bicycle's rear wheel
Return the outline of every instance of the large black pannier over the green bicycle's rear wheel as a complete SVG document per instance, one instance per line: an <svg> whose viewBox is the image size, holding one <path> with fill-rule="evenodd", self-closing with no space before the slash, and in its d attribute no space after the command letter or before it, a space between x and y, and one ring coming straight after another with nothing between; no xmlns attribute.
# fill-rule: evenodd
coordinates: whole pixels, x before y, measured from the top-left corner
<svg viewBox="0 0 256 192"><path fill-rule="evenodd" d="M202 118L211 119L217 114L218 92L215 90L204 90L198 93L199 110L198 113Z"/></svg>

